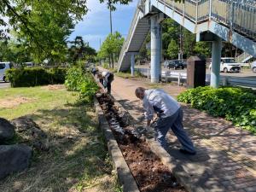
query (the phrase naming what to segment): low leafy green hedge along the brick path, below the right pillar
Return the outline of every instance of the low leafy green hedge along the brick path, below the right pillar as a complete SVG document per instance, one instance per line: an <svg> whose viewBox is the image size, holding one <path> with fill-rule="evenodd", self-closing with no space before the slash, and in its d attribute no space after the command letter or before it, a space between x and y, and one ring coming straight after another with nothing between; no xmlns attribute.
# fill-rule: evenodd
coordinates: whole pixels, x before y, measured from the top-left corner
<svg viewBox="0 0 256 192"><path fill-rule="evenodd" d="M193 108L224 117L235 125L256 133L256 91L245 88L198 87L177 96L179 102L191 103Z"/></svg>

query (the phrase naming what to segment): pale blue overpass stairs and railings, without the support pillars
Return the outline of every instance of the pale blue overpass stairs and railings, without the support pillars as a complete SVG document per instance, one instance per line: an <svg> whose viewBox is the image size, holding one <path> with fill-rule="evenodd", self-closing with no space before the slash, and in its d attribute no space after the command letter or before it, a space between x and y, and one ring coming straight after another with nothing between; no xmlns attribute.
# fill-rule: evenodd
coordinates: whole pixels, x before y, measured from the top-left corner
<svg viewBox="0 0 256 192"><path fill-rule="evenodd" d="M255 0L139 0L128 36L119 55L119 71L131 66L150 30L150 16L163 13L196 34L197 41L214 34L256 57Z"/></svg>

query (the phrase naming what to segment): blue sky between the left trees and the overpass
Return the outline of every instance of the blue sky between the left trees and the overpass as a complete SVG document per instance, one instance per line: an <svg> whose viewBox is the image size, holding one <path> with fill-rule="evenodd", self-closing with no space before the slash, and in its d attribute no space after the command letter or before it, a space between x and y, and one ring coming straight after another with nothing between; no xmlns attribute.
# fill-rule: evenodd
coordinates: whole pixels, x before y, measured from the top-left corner
<svg viewBox="0 0 256 192"><path fill-rule="evenodd" d="M137 0L133 0L129 5L116 6L117 10L112 15L113 32L118 31L124 37L127 36L136 6ZM100 41L103 42L110 33L109 10L107 5L99 3L99 0L87 0L87 7L87 15L77 24L69 40L81 36L85 42L89 42L90 47L98 50Z"/></svg>

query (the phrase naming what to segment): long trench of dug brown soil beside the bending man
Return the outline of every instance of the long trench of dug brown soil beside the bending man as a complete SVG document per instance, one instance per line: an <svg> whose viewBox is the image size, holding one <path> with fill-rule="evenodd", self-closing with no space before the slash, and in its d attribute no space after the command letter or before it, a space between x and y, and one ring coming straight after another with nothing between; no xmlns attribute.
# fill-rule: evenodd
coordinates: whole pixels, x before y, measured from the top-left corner
<svg viewBox="0 0 256 192"><path fill-rule="evenodd" d="M141 133L131 126L129 114L119 110L108 94L97 94L96 97L140 191L185 191L168 167L150 150Z"/></svg>

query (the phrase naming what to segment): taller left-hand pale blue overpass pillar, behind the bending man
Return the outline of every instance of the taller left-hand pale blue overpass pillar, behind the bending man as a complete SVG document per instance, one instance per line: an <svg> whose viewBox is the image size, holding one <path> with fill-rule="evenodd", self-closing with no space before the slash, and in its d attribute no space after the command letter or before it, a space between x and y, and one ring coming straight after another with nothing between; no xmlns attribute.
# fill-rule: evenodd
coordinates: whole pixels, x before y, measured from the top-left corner
<svg viewBox="0 0 256 192"><path fill-rule="evenodd" d="M158 15L151 17L151 83L160 81L161 27Z"/></svg>

